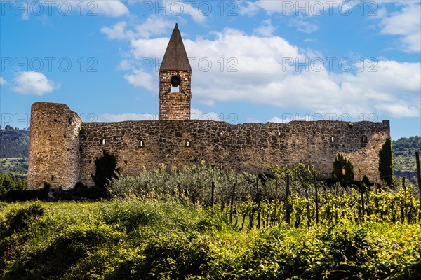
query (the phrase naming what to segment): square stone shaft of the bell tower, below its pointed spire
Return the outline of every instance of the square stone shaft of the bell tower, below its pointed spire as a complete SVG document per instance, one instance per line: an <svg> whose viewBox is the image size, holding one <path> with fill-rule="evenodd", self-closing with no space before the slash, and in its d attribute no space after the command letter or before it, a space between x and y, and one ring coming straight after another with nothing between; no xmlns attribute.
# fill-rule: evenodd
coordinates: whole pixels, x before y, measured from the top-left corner
<svg viewBox="0 0 421 280"><path fill-rule="evenodd" d="M171 77L180 77L180 92L171 93ZM192 71L159 72L159 120L189 120Z"/></svg>

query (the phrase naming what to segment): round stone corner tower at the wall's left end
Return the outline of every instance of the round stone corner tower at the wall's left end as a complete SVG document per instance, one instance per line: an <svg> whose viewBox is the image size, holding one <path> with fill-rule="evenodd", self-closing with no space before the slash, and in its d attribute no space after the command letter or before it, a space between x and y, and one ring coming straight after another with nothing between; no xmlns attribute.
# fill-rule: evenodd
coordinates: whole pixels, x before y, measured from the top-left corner
<svg viewBox="0 0 421 280"><path fill-rule="evenodd" d="M31 108L28 188L67 190L79 179L81 118L65 104L37 102Z"/></svg>

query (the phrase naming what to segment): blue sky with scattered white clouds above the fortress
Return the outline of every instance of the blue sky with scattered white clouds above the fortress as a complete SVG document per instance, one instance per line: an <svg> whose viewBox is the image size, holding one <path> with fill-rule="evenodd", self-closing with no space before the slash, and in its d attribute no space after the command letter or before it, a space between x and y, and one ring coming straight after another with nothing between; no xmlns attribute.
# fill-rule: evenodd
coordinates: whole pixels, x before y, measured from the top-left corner
<svg viewBox="0 0 421 280"><path fill-rule="evenodd" d="M178 22L192 118L391 120L421 134L420 1L4 1L0 125L33 102L84 121L151 120Z"/></svg>

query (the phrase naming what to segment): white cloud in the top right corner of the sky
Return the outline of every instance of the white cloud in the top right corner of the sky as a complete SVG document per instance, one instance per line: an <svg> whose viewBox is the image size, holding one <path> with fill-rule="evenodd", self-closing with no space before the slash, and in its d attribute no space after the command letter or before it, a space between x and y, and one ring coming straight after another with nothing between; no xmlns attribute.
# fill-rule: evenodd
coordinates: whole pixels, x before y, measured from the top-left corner
<svg viewBox="0 0 421 280"><path fill-rule="evenodd" d="M421 5L410 3L392 15L384 15L380 22L382 34L400 36L405 52L421 51Z"/></svg>

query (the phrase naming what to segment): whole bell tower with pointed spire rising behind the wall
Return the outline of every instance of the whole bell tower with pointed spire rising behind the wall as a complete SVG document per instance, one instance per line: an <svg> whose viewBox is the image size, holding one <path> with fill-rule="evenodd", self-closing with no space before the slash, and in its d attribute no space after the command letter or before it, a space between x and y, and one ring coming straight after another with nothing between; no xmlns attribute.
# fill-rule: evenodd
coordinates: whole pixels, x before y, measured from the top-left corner
<svg viewBox="0 0 421 280"><path fill-rule="evenodd" d="M175 24L159 68L159 120L190 120L192 67Z"/></svg>

